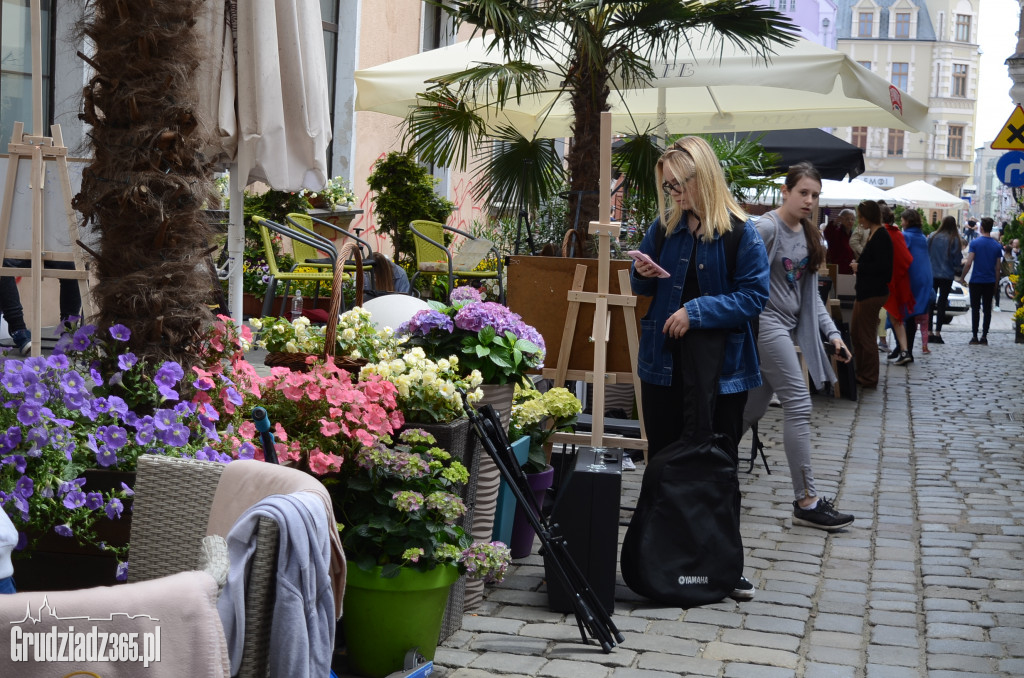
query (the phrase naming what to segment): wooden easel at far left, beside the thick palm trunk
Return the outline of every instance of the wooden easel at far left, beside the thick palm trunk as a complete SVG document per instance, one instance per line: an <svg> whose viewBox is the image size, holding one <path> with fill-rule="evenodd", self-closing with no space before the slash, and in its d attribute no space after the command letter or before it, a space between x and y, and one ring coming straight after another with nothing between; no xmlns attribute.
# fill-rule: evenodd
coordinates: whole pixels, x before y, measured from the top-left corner
<svg viewBox="0 0 1024 678"><path fill-rule="evenodd" d="M14 123L10 144L7 146L7 180L4 187L3 207L0 209L0 276L29 276L32 280L32 354L41 352L42 314L43 314L43 279L70 278L78 280L79 291L82 294L83 315L92 314L92 304L89 299L88 272L82 252L75 246L79 240L78 219L71 206L72 188L68 173L68 149L63 144L60 126L50 127L53 136L42 136L43 128L43 57L42 15L39 0L32 0L32 117L33 129L36 134L25 134L25 124ZM23 159L32 163L29 176L29 187L32 190L32 249L7 249L7 234L10 231L10 217L13 210L14 186L17 179L18 166ZM46 162L53 161L57 167L57 180L63 197L65 216L68 219L68 235L72 243L72 252L49 252L43 249L43 209L45 205ZM3 259L29 259L30 267L7 267ZM74 261L74 269L43 268L44 261Z"/></svg>

